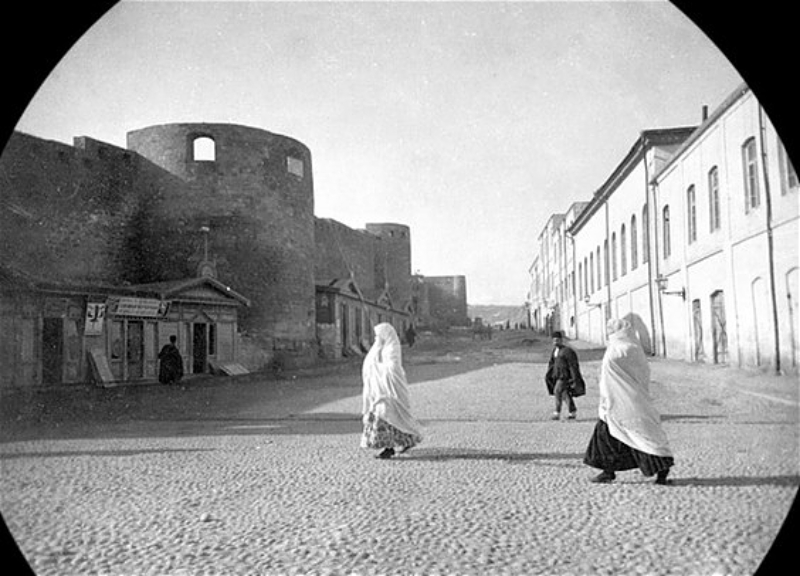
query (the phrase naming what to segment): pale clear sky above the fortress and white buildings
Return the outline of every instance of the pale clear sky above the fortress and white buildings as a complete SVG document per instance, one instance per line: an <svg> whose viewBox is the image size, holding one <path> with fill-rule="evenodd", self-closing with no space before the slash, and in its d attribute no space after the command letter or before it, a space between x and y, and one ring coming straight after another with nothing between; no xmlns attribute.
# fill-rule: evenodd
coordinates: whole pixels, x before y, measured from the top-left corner
<svg viewBox="0 0 800 576"><path fill-rule="evenodd" d="M698 124L742 81L658 0L123 0L67 52L17 130L125 147L220 122L311 150L315 215L411 229L412 271L520 305L553 213L646 129Z"/></svg>

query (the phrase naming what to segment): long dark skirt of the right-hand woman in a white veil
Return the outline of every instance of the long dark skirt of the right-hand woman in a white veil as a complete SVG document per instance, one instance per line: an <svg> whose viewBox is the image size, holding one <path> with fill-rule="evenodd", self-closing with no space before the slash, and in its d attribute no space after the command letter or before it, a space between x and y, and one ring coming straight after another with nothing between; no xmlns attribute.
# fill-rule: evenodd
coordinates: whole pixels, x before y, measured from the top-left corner
<svg viewBox="0 0 800 576"><path fill-rule="evenodd" d="M675 460L672 456L654 456L631 448L611 435L608 424L598 420L583 463L609 471L638 468L645 476L653 476L662 470L668 470L675 464Z"/></svg>

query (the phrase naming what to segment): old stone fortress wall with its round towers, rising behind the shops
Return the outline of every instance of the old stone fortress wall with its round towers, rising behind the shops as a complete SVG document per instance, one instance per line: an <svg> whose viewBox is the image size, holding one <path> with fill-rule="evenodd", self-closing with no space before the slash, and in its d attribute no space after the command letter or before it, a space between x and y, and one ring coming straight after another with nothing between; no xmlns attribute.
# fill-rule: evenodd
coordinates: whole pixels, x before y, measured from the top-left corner
<svg viewBox="0 0 800 576"><path fill-rule="evenodd" d="M385 317L402 331L421 303L408 226L317 218L310 150L235 124L149 126L129 132L127 148L14 132L0 156L0 265L52 285L233 286L248 301L236 354L250 370L308 365L331 347L346 354L359 330L372 338L368 322ZM361 322L358 306L341 305L351 281ZM325 316L333 344L317 321L331 290L341 300ZM43 322L20 346L41 348Z"/></svg>

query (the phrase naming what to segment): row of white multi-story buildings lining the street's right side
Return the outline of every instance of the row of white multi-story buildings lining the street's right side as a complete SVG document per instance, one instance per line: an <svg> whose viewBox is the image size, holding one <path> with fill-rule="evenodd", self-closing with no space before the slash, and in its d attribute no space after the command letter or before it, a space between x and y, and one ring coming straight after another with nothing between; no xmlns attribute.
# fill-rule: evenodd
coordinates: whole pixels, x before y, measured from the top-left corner
<svg viewBox="0 0 800 576"><path fill-rule="evenodd" d="M738 366L798 363L798 182L755 96L739 86L700 126L645 130L563 235L560 328L595 344L632 321L653 354ZM566 218L561 218L566 222ZM538 270L552 256L552 219ZM546 240L546 242L545 242ZM545 245L547 245L545 247ZM555 304L553 306L552 304ZM553 330L554 323L542 324Z"/></svg>

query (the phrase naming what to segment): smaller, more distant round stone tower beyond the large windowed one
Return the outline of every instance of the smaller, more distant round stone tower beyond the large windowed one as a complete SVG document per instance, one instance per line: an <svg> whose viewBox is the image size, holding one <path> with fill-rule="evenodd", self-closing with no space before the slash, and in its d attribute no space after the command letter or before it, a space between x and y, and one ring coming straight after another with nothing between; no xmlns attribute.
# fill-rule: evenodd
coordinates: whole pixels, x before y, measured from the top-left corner
<svg viewBox="0 0 800 576"><path fill-rule="evenodd" d="M367 224L366 230L381 239L376 252L375 280L385 284L395 308L411 301L411 230L403 224Z"/></svg>

